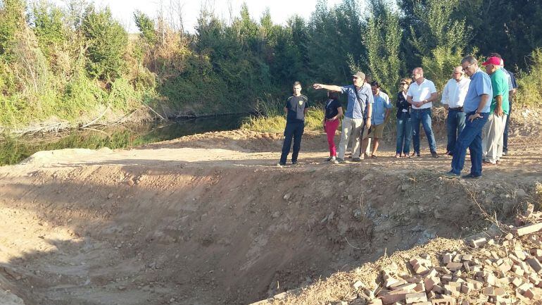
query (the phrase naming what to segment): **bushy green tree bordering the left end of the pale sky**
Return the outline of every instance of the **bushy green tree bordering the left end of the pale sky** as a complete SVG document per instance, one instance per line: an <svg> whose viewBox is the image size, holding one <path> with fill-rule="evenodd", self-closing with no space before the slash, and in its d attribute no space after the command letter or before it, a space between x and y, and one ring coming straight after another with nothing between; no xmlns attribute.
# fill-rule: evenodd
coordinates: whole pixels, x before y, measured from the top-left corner
<svg viewBox="0 0 542 305"><path fill-rule="evenodd" d="M124 28L111 16L109 8L84 14L81 30L87 39L87 71L93 77L110 82L125 70L124 55L128 36Z"/></svg>

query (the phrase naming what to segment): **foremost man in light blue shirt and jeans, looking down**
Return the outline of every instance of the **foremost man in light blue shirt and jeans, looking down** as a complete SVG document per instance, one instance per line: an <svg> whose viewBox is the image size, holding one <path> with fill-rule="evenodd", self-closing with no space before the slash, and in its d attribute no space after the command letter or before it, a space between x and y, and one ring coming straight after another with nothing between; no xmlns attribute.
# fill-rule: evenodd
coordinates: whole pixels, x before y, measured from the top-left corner
<svg viewBox="0 0 542 305"><path fill-rule="evenodd" d="M444 174L447 178L457 178L465 166L467 148L470 151L472 166L468 175L462 178L481 177L481 131L489 116L490 99L493 96L491 78L478 66L474 56L466 56L461 61L461 68L470 77L469 89L465 96L463 109L467 120L465 128L459 134L453 150L452 169Z"/></svg>

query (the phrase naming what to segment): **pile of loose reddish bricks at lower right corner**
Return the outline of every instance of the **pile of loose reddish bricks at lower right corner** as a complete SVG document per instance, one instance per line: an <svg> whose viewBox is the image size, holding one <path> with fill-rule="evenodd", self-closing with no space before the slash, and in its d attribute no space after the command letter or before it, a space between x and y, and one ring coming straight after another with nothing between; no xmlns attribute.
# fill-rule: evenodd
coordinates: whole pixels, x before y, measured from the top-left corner
<svg viewBox="0 0 542 305"><path fill-rule="evenodd" d="M520 221L540 216L531 211ZM508 229L497 240L470 240L469 253L445 253L438 264L429 255L414 257L409 275L382 271L368 304L542 304L542 223Z"/></svg>

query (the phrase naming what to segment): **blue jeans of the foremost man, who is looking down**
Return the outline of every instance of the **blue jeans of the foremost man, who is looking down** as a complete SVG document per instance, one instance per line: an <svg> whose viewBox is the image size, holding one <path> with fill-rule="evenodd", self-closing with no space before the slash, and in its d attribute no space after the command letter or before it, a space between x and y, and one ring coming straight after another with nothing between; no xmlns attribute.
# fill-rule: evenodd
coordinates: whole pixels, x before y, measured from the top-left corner
<svg viewBox="0 0 542 305"><path fill-rule="evenodd" d="M467 148L470 151L470 161L472 166L470 174L479 177L481 176L481 130L486 125L489 117L489 112L481 113L481 118L476 118L472 122L468 120L469 116L474 114L474 111L467 113L465 120L465 128L459 134L458 141L455 142L452 158L452 172L455 175L460 175L463 166L465 166L465 156L467 156Z"/></svg>

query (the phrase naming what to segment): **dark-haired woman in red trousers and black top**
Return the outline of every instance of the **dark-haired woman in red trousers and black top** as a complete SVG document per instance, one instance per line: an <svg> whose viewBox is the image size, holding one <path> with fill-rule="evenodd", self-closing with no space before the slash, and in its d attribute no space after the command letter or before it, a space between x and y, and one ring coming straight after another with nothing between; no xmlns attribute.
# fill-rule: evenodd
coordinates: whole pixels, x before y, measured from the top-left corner
<svg viewBox="0 0 542 305"><path fill-rule="evenodd" d="M326 114L324 120L322 120L322 125L324 125L324 130L327 134L327 143L329 144L329 158L326 161L332 161L333 163L339 163L336 161L336 147L335 147L335 131L339 124L341 123L341 118L343 117L343 107L339 101L339 92L327 92L327 101L326 101Z"/></svg>

